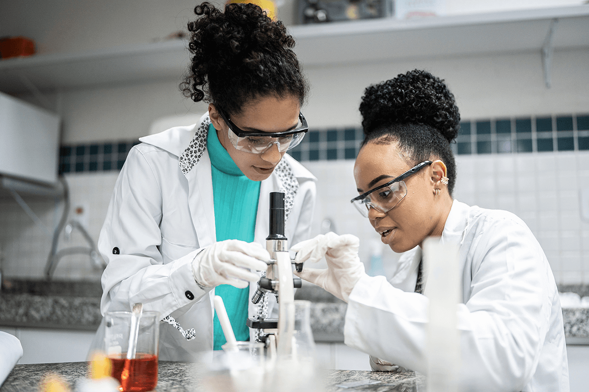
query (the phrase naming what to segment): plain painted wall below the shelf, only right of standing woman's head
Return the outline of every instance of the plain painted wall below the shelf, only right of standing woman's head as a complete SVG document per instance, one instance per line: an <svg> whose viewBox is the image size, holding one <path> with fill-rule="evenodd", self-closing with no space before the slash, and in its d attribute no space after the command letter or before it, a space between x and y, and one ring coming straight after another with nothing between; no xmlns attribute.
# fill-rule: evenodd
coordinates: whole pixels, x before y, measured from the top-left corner
<svg viewBox="0 0 589 392"><path fill-rule="evenodd" d="M540 52L306 68L312 91L305 116L320 128L357 125L368 85L415 68L446 81L464 119L586 111L589 50L557 51L553 61L550 89L544 85Z"/></svg>

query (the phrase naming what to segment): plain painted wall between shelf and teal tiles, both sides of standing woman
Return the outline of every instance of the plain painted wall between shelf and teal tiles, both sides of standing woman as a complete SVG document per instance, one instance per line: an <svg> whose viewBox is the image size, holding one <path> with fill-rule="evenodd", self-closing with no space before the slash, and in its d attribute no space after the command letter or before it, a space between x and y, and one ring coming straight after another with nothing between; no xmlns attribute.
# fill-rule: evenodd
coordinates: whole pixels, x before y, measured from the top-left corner
<svg viewBox="0 0 589 392"><path fill-rule="evenodd" d="M498 53L306 68L312 90L303 112L313 128L358 126L364 89L410 69L445 79L464 119L549 115L589 109L589 49L554 53L552 87L542 76L540 53ZM202 113L184 99L178 80L77 89L60 93L63 143L138 138L166 115Z"/></svg>

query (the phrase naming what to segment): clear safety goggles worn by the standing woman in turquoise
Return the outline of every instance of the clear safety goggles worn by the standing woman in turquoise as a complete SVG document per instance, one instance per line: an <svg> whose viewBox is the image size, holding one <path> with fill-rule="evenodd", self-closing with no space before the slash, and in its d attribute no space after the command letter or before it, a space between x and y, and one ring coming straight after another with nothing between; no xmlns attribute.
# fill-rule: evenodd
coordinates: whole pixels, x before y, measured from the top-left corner
<svg viewBox="0 0 589 392"><path fill-rule="evenodd" d="M299 122L297 125L285 132L249 132L237 127L223 113L223 110L217 108L217 112L223 121L229 127L229 140L231 144L240 151L261 154L273 145L278 146L280 152L290 150L303 140L305 133L309 130L307 120L303 113L299 112Z"/></svg>

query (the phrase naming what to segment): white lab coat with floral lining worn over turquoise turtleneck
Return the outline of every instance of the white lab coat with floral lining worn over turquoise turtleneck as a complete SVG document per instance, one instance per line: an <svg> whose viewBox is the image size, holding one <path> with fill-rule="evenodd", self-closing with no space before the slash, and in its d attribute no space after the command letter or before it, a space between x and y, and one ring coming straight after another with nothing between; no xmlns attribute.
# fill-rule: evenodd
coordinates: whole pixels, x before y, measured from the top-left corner
<svg viewBox="0 0 589 392"><path fill-rule="evenodd" d="M143 143L131 149L117 179L98 240L107 262L101 280L102 314L130 310L141 302L144 310L158 311L160 320L171 315L185 330L196 329L196 339L187 341L178 330L160 323L160 360L196 360L198 352L213 349L214 289L201 290L191 270L197 251L216 242L211 163L205 150L186 175L178 164L197 132L206 139L209 122L207 113L200 125L140 139ZM206 146L206 140L200 142ZM310 235L316 178L289 155L282 161L289 178L298 182L285 225L290 243L297 243ZM260 186L254 240L264 247L269 194L285 192L277 170ZM114 254L115 247L120 254ZM250 297L256 288L250 284ZM272 307L274 296L269 297ZM257 305L250 302L249 315L256 311Z"/></svg>

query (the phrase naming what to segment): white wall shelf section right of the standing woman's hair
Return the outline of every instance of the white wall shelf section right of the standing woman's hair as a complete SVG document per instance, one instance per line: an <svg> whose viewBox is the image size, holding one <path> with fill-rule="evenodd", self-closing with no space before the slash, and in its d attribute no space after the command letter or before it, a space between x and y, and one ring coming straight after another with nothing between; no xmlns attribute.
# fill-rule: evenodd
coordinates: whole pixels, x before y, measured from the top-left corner
<svg viewBox="0 0 589 392"><path fill-rule="evenodd" d="M305 65L449 57L542 49L558 19L554 48L589 47L589 6L441 18L377 19L291 29Z"/></svg>

